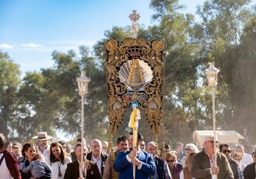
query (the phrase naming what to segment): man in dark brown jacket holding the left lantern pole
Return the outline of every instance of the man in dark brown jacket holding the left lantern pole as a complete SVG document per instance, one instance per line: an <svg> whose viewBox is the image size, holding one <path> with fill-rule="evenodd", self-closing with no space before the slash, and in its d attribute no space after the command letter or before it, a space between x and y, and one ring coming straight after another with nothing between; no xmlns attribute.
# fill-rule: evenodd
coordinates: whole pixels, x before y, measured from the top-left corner
<svg viewBox="0 0 256 179"><path fill-rule="evenodd" d="M83 152L83 166L81 164L81 152ZM97 164L86 159L87 150L85 145L82 150L82 145L78 143L75 147L75 153L77 160L67 164L64 179L101 179ZM83 178L80 178L79 170L82 170Z"/></svg>

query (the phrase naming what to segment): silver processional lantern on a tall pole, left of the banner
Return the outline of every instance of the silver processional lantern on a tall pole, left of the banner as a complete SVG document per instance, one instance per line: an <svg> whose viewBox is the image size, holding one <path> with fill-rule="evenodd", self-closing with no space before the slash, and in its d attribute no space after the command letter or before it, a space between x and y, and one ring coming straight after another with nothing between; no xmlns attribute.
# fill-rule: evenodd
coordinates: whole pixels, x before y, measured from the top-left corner
<svg viewBox="0 0 256 179"><path fill-rule="evenodd" d="M90 78L85 76L85 71L81 71L81 76L76 78L76 82L78 83L79 95L82 99L81 102L81 167L79 168L80 178L83 178L83 128L84 128L84 103L85 103L85 95L87 94L88 83L91 81ZM84 173L85 174L85 173Z"/></svg>

